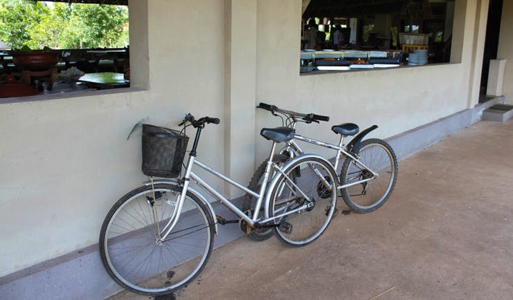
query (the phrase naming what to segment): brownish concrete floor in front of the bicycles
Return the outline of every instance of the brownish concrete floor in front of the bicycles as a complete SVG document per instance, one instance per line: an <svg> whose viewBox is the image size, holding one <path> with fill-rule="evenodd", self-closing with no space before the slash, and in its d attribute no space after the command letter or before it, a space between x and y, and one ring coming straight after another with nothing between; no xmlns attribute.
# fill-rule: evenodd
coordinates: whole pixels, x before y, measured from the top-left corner
<svg viewBox="0 0 513 300"><path fill-rule="evenodd" d="M219 247L187 288L159 299L174 297L513 299L513 120L480 122L403 160L388 203L339 214L312 245Z"/></svg>

